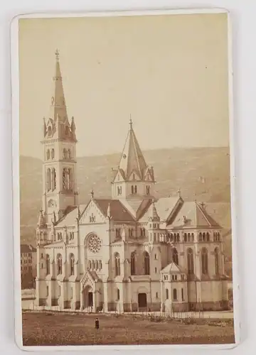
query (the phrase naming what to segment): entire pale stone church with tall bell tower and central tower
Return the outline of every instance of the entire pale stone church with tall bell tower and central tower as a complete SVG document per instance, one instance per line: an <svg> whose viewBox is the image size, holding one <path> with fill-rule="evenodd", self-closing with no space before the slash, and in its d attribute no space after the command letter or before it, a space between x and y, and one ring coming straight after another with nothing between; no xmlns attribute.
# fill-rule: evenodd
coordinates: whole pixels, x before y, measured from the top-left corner
<svg viewBox="0 0 256 355"><path fill-rule="evenodd" d="M85 311L223 310L228 307L222 228L207 205L154 197L129 122L112 198L79 204L76 127L56 53L50 118L43 122L43 198L38 217L36 307Z"/></svg>

